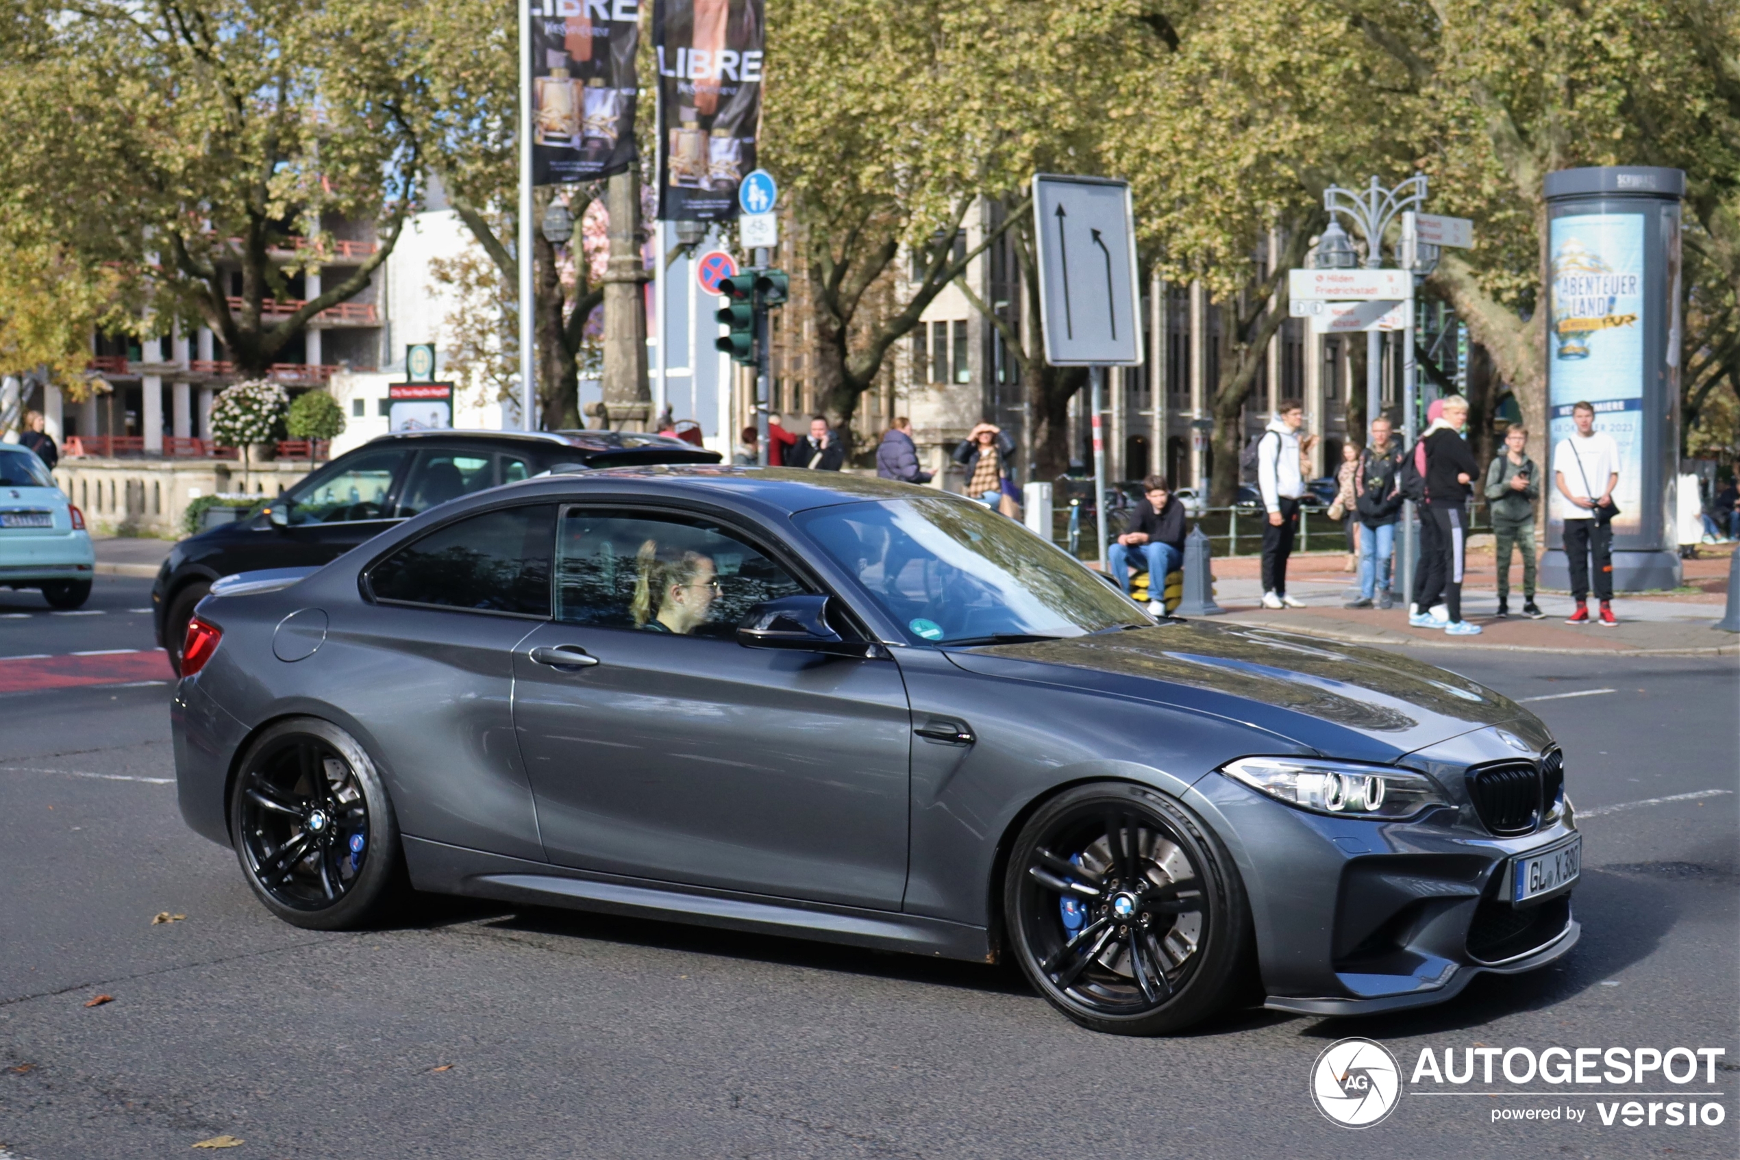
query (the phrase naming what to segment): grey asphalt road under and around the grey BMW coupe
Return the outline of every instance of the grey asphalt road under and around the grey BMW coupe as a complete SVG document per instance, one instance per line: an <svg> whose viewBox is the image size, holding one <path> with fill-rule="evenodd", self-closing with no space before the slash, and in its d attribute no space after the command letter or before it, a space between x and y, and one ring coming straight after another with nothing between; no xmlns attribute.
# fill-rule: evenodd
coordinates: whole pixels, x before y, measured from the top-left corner
<svg viewBox="0 0 1740 1160"><path fill-rule="evenodd" d="M0 595L0 657L151 649L127 612L146 588L103 581L89 617ZM1580 946L1420 1014L1248 1010L1171 1040L1081 1031L1013 970L658 922L430 901L390 930L296 930L183 826L167 687L0 694L0 1157L216 1136L263 1160L1737 1155L1735 663L1430 659L1557 697L1533 708L1582 814ZM1307 1094L1348 1035L1404 1073L1423 1047L1721 1047L1714 1083L1623 1090L1719 1092L1700 1099L1724 1122L1604 1127L1611 1085L1536 1080L1413 1085L1350 1132ZM1526 1108L1561 1118L1491 1118Z"/></svg>

